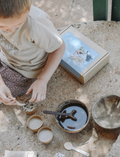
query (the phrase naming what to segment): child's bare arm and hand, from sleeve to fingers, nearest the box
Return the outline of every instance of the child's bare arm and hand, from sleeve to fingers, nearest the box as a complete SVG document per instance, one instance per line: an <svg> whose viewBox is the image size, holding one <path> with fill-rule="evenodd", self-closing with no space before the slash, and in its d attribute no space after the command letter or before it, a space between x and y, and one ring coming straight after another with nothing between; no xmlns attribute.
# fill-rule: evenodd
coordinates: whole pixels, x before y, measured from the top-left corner
<svg viewBox="0 0 120 157"><path fill-rule="evenodd" d="M65 43L63 41L63 44L57 50L49 54L44 70L41 72L37 80L31 85L31 87L28 89L26 93L30 94L30 92L33 91L30 102L33 101L39 102L46 98L47 83L50 80L56 68L58 67L64 54L64 51Z"/></svg>

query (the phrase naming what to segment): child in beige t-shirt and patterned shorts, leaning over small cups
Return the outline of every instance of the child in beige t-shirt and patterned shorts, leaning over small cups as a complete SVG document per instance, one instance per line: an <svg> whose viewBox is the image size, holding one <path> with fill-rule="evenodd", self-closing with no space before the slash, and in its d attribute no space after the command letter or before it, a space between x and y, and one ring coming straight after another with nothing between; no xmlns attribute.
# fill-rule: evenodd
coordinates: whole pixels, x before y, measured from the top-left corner
<svg viewBox="0 0 120 157"><path fill-rule="evenodd" d="M0 101L6 105L31 92L29 102L44 100L65 51L48 15L31 3L0 0Z"/></svg>

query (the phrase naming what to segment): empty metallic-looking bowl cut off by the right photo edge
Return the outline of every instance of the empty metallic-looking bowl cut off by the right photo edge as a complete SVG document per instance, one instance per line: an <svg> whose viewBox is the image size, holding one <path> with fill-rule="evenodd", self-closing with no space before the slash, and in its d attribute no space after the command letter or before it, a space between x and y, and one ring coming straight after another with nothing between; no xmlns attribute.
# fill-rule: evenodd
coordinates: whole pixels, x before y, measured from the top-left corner
<svg viewBox="0 0 120 157"><path fill-rule="evenodd" d="M120 97L117 95L103 96L93 105L94 121L105 129L120 127Z"/></svg>

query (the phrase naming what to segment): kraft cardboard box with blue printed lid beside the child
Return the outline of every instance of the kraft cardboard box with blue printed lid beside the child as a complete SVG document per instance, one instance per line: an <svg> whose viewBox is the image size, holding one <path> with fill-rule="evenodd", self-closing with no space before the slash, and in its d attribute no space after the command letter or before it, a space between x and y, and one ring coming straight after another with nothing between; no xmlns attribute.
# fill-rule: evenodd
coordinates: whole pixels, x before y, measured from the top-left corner
<svg viewBox="0 0 120 157"><path fill-rule="evenodd" d="M72 26L60 33L66 50L60 65L85 84L109 62L109 53Z"/></svg>

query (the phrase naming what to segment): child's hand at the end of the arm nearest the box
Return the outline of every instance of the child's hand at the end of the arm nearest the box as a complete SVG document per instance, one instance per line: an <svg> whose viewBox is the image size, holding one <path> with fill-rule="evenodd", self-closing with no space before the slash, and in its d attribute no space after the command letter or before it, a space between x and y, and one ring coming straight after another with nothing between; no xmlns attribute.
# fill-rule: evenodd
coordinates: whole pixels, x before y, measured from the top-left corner
<svg viewBox="0 0 120 157"><path fill-rule="evenodd" d="M42 79L37 79L28 89L27 95L32 92L29 102L39 102L46 98L47 83Z"/></svg>

